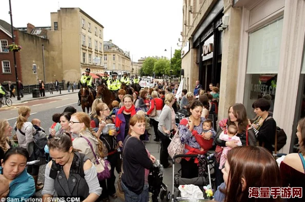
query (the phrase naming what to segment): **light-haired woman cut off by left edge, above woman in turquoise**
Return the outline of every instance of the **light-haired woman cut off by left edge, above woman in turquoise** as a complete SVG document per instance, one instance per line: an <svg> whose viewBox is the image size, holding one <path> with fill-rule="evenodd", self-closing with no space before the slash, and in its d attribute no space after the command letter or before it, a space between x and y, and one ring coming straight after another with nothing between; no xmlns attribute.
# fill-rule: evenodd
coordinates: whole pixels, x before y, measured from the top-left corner
<svg viewBox="0 0 305 202"><path fill-rule="evenodd" d="M0 166L1 159L4 159L4 153L11 148L9 145L9 136L12 135L12 129L7 119L0 119Z"/></svg>

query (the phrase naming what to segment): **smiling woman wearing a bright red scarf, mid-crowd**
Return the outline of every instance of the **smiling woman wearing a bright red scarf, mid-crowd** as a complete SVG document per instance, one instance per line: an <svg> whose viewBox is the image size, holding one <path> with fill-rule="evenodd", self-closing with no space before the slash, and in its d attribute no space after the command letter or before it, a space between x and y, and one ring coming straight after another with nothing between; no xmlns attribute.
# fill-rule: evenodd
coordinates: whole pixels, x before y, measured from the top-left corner
<svg viewBox="0 0 305 202"><path fill-rule="evenodd" d="M144 91L144 90L143 90ZM116 127L119 128L117 143L120 148L123 147L123 142L129 131L129 120L130 117L135 115L139 109L136 110L134 98L131 95L125 95L123 97L123 107L117 113L116 116Z"/></svg>

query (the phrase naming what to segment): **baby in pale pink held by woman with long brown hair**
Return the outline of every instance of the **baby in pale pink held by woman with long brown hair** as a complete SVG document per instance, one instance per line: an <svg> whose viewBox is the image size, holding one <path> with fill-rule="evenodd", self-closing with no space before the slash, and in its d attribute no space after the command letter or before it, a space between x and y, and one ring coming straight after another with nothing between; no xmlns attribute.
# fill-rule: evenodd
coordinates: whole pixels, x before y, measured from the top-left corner
<svg viewBox="0 0 305 202"><path fill-rule="evenodd" d="M240 138L236 136L237 134L237 127L235 125L230 125L227 127L227 130L222 132L219 136L221 140L225 141L234 141L237 142L238 146L241 146ZM231 150L230 147L223 147L222 154L220 156L220 161L219 161L219 169L222 169L223 165L225 164L226 161L226 154L227 152Z"/></svg>

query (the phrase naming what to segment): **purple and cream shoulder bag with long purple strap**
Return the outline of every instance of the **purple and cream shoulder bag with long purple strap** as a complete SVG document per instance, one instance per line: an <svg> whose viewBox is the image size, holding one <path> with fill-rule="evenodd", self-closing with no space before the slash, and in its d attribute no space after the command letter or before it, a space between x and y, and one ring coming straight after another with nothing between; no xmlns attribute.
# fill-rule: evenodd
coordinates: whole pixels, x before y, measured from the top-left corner
<svg viewBox="0 0 305 202"><path fill-rule="evenodd" d="M93 164L97 169L97 173L98 173L98 179L99 181L103 181L104 179L108 179L111 176L110 170L111 170L111 166L109 164L109 161L106 159L102 159L100 157L97 157L96 153L93 151L93 147L92 144L90 143L89 139L87 137L81 136L84 139L86 139L88 145L90 146L93 156L96 159Z"/></svg>

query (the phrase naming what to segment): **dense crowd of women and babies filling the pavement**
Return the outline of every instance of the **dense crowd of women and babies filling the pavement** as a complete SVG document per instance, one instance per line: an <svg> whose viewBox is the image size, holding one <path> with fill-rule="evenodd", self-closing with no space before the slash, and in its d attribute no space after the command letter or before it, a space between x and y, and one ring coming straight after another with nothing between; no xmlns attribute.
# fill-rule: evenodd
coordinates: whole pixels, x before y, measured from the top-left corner
<svg viewBox="0 0 305 202"><path fill-rule="evenodd" d="M255 187L304 187L304 118L297 127L299 153L287 155L279 167L272 155L276 122L269 113L269 100L260 98L253 103L254 119L249 119L242 104L230 106L227 118L219 120L215 128L208 117L217 115L219 87L211 84L205 92L198 81L194 92L183 89L176 97L178 87L174 82L158 82L155 88L146 87L132 95L121 89L112 108L97 98L90 114L69 106L52 115L52 126L45 126L50 127L49 134L39 119L29 122L31 109L21 106L14 126L0 119L0 182L4 185L0 197L28 198L43 189L44 200L58 195L110 201L110 197L118 197L117 172L125 201L148 201L149 169L157 160L145 148L150 125L155 142L161 144L159 159L165 169L172 166L167 150L171 134L179 135L183 154L203 155L215 149L217 201L264 200L250 197ZM186 115L179 124L177 112ZM12 130L15 137L10 137ZM35 146L40 141L37 137L47 139L42 152L47 162L44 183L38 180L43 163L41 150ZM27 165L31 160L36 161ZM198 177L198 158L184 157L180 164L181 177Z"/></svg>

